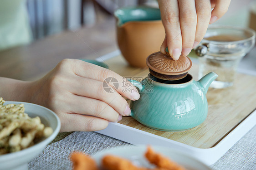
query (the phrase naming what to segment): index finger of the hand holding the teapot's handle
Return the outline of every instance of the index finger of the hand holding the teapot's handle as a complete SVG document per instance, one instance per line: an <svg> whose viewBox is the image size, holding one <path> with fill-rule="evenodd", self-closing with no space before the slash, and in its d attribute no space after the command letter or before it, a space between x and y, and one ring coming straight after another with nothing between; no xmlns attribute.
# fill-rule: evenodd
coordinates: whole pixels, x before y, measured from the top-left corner
<svg viewBox="0 0 256 170"><path fill-rule="evenodd" d="M139 99L140 95L137 88L118 73L81 60L77 60L75 62L76 64L75 67L73 67L73 72L76 75L101 81L102 86L103 83L105 83L105 85L107 83L108 86L115 88L119 94L130 100Z"/></svg>

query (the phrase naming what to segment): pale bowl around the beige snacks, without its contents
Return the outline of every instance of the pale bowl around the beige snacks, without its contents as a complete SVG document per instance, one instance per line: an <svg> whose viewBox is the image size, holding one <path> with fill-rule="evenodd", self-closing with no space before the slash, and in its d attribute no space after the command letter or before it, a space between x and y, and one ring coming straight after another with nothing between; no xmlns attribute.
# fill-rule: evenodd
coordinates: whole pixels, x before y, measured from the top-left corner
<svg viewBox="0 0 256 170"><path fill-rule="evenodd" d="M30 117L40 117L41 122L46 126L50 126L53 130L51 136L47 137L43 141L40 141L34 146L28 147L18 152L0 155L0 170L27 170L27 163L39 155L41 151L46 147L46 145L53 141L58 135L61 128L61 122L57 115L46 107L26 102L5 102L4 105L10 103L23 103L25 112Z"/></svg>

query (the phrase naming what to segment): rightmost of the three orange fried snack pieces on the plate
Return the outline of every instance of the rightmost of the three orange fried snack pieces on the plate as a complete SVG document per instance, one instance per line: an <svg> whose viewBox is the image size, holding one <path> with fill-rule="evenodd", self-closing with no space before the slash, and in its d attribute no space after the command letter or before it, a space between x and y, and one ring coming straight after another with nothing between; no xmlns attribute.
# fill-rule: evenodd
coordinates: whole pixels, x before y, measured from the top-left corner
<svg viewBox="0 0 256 170"><path fill-rule="evenodd" d="M164 170L185 170L182 166L176 164L175 162L169 160L161 154L155 153L151 147L145 153L145 157L151 163L156 165L160 169Z"/></svg>

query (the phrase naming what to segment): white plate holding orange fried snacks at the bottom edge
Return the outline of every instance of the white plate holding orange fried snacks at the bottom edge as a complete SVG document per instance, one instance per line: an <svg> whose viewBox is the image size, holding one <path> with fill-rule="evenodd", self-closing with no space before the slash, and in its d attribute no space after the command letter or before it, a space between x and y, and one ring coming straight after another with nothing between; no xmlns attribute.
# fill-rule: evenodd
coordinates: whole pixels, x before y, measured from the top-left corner
<svg viewBox="0 0 256 170"><path fill-rule="evenodd" d="M155 152L158 152L169 159L173 160L179 165L182 165L187 170L210 170L210 168L180 151L176 151L171 148L161 147L161 146L152 146ZM143 166L143 167L153 167L148 163L148 161L144 157L144 153L146 152L147 146L121 146L111 148L105 151L97 152L92 155L97 162L97 165L101 164L102 157L104 155L117 155L122 158L131 160L134 165Z"/></svg>

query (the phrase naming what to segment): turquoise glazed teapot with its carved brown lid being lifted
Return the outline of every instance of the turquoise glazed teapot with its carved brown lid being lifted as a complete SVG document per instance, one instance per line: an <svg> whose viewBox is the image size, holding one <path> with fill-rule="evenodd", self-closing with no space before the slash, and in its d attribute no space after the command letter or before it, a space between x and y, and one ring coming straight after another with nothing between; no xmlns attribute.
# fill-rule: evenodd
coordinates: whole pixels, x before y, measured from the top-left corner
<svg viewBox="0 0 256 170"><path fill-rule="evenodd" d="M141 82L129 80L138 87L140 99L131 101L131 117L159 131L186 131L200 125L207 117L206 92L218 77L210 72L199 81L188 74L192 62L180 56L174 61L166 50L148 56L148 77Z"/></svg>

